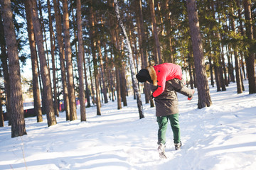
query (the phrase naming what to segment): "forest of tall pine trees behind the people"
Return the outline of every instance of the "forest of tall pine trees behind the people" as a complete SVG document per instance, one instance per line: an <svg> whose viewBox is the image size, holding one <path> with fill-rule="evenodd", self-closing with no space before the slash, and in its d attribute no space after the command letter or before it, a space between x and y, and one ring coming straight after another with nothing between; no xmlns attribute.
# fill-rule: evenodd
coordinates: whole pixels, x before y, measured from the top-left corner
<svg viewBox="0 0 256 170"><path fill-rule="evenodd" d="M37 122L47 115L57 123L60 100L66 120L81 121L86 108L127 96L154 107L146 84L134 74L148 65L171 62L182 67L198 108L212 105L209 86L225 91L236 82L237 93L255 81L255 0L0 0L0 125L6 107L11 137L26 135L21 65L31 67ZM26 65L30 60L31 65ZM86 105L85 105L86 103Z"/></svg>

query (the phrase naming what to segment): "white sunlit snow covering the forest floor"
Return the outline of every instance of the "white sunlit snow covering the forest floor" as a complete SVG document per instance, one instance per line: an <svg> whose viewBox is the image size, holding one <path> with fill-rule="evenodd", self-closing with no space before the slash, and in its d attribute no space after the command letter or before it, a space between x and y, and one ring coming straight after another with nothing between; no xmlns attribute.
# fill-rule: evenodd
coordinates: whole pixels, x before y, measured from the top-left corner
<svg viewBox="0 0 256 170"><path fill-rule="evenodd" d="M65 120L48 127L26 118L28 135L11 138L11 127L0 128L0 169L256 169L256 94L236 93L232 83L227 91L210 87L213 106L197 109L192 101L178 95L180 109L180 150L174 150L171 127L166 133L167 159L157 152L155 108L144 104L145 118L139 120L136 100L117 110L117 103L86 108L87 122ZM142 95L142 100L144 96ZM145 103L143 101L143 103ZM78 108L78 118L80 111Z"/></svg>

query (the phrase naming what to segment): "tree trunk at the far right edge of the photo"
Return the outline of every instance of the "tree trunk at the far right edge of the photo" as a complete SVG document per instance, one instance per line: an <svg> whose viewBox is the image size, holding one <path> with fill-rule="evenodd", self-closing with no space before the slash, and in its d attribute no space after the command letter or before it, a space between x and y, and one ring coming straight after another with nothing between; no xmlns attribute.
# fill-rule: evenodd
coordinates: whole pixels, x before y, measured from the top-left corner
<svg viewBox="0 0 256 170"><path fill-rule="evenodd" d="M246 69L249 80L249 94L256 93L256 81L255 81L255 52L253 52L253 32L252 32L252 16L251 16L251 0L243 0L245 8L245 28L246 36L250 40L250 47L247 47L249 54L245 56Z"/></svg>

